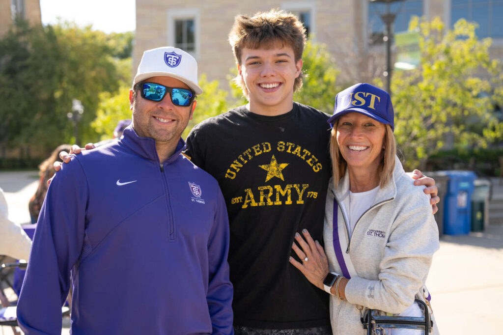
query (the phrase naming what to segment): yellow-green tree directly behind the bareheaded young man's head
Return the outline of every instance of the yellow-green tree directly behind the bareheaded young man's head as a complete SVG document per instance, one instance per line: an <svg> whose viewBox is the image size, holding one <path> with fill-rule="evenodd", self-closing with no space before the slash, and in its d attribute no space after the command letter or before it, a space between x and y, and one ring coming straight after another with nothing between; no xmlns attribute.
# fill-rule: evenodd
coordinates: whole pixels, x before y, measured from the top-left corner
<svg viewBox="0 0 503 335"><path fill-rule="evenodd" d="M302 62L303 85L294 94L293 100L332 114L336 95L341 91L341 86L336 83L340 71L333 56L325 44L308 40L302 54ZM238 100L239 105L244 105L247 101L233 80L237 69L234 68L231 72L232 78L229 76L229 80L232 96Z"/></svg>

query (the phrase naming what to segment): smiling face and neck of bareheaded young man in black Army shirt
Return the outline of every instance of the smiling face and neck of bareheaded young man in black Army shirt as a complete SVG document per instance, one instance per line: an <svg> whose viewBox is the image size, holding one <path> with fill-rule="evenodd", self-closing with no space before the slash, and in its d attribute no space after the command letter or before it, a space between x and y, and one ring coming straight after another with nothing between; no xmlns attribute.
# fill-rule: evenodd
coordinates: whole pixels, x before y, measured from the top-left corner
<svg viewBox="0 0 503 335"><path fill-rule="evenodd" d="M289 112L301 69L302 59L295 61L290 46L276 43L267 49L242 49L238 70L248 90L250 111L267 116Z"/></svg>

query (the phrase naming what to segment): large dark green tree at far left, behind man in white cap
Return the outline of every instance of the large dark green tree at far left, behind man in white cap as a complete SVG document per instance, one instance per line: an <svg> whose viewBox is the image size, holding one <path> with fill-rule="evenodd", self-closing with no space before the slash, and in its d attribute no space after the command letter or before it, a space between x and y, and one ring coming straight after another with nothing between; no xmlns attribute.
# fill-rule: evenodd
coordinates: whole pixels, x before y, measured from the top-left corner
<svg viewBox="0 0 503 335"><path fill-rule="evenodd" d="M72 23L30 27L17 22L0 39L1 144L32 145L48 152L63 142L74 143L67 117L72 99L80 100L85 109L80 138L95 140L89 123L95 119L99 94L116 91L131 73L130 60L119 58L131 40L112 41L101 31Z"/></svg>

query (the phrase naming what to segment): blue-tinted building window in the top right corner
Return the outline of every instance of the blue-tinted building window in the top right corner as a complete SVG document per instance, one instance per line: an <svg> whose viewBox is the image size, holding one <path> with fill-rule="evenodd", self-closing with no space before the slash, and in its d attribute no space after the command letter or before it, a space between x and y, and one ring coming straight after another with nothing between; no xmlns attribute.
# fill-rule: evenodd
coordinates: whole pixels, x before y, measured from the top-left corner
<svg viewBox="0 0 503 335"><path fill-rule="evenodd" d="M451 26L459 19L478 24L477 37L503 37L503 0L452 0Z"/></svg>

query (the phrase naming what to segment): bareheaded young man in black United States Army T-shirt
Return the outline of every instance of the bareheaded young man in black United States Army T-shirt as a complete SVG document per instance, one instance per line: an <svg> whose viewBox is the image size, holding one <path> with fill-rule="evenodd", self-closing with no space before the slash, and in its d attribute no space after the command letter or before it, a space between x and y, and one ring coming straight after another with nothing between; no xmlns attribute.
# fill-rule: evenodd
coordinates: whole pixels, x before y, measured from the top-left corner
<svg viewBox="0 0 503 335"><path fill-rule="evenodd" d="M289 264L297 232L323 240L331 175L328 116L293 102L304 33L282 11L237 16L229 42L249 103L201 122L187 138L186 154L218 180L227 204L236 334L331 334L328 295ZM426 192L438 202L436 187Z"/></svg>

